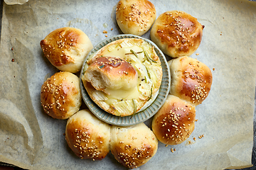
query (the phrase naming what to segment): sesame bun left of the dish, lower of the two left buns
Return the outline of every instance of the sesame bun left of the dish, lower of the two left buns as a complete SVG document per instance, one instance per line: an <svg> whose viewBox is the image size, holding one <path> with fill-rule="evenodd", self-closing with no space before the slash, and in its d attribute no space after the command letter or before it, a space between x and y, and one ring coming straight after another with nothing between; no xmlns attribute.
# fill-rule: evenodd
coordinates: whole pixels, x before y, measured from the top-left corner
<svg viewBox="0 0 256 170"><path fill-rule="evenodd" d="M78 112L82 104L79 78L70 72L57 72L41 87L43 111L57 119L67 119Z"/></svg>

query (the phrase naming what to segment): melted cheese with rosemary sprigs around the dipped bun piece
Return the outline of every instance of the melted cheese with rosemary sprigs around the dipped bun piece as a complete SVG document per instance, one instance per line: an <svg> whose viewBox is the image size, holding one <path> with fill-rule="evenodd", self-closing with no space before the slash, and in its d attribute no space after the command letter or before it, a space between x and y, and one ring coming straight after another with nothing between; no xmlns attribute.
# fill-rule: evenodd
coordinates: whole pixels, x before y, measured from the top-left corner
<svg viewBox="0 0 256 170"><path fill-rule="evenodd" d="M146 51L149 56L155 55L152 46L144 40L138 42L137 40L134 41L133 39L125 39L119 44L113 43L107 45L107 48L103 48L103 50L99 50L98 52L92 54L88 59L90 60L92 57L95 57L98 54L100 54L102 57L119 57L132 64L134 69L137 70L138 84L136 88L129 90L106 89L106 94L102 93L102 95L107 96L107 99L104 100L105 103L114 108L114 110L117 112L116 115L122 115L122 112L124 111L133 112L133 100L135 100L137 103L139 100L147 101L147 103L141 107L140 111L142 111L154 101L158 94L159 86L155 86L157 78L154 72L159 72L159 67L161 67L161 64L155 62L152 64L152 62L150 62L149 59L147 59L144 55L144 51ZM133 52L136 52L137 56L134 55ZM85 70L86 69L87 67L85 67ZM153 95L152 91L155 91Z"/></svg>

